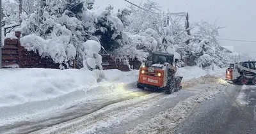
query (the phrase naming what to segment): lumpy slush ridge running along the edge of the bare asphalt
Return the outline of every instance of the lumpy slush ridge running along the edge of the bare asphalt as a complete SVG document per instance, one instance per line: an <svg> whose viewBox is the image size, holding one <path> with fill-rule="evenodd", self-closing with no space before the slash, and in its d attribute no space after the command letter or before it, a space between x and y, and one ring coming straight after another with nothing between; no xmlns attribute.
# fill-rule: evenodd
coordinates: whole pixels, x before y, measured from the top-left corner
<svg viewBox="0 0 256 134"><path fill-rule="evenodd" d="M139 124L136 128L126 133L174 133L175 128L193 112L199 103L204 100L214 99L225 84L216 85L205 89L200 94L180 101L174 108L162 112L146 123Z"/></svg>

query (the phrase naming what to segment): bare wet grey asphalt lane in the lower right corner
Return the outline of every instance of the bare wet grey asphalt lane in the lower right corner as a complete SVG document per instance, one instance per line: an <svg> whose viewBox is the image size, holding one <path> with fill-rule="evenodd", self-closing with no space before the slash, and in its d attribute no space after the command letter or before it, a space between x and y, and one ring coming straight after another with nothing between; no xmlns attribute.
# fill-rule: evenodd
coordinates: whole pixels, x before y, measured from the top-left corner
<svg viewBox="0 0 256 134"><path fill-rule="evenodd" d="M241 94L246 105L240 102ZM175 133L256 134L256 86L228 87L214 100L199 105Z"/></svg>

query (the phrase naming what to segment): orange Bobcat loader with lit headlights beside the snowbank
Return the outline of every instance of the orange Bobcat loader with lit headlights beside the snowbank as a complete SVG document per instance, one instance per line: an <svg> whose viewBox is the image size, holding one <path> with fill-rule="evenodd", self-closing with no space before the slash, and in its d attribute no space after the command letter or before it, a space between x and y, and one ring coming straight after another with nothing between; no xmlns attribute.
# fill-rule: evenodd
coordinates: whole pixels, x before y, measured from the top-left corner
<svg viewBox="0 0 256 134"><path fill-rule="evenodd" d="M177 62L173 61L173 54L155 52L140 67L137 87L144 89L161 90L164 93L172 94L182 89L181 81L183 77L176 77ZM175 63L175 66L173 66Z"/></svg>

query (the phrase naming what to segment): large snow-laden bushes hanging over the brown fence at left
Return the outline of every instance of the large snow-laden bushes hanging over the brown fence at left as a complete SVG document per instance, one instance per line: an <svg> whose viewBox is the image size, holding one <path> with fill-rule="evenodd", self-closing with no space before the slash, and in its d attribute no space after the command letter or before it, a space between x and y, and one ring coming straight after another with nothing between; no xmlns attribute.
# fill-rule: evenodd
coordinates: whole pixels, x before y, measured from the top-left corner
<svg viewBox="0 0 256 134"><path fill-rule="evenodd" d="M40 56L52 57L55 63L68 66L76 59L78 68L84 65L94 69L96 63L102 69L99 51L104 48L113 52L122 46L124 25L111 13L111 6L92 10L93 3L93 0L36 2L38 10L24 16L22 21L22 46L38 50ZM90 52L88 44L97 46L97 52Z"/></svg>

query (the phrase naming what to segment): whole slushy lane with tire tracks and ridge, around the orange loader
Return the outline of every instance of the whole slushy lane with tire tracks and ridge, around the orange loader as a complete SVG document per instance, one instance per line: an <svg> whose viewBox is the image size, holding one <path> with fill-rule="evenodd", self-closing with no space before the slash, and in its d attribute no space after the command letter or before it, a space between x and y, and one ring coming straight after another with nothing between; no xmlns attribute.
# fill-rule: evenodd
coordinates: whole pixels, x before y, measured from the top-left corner
<svg viewBox="0 0 256 134"><path fill-rule="evenodd" d="M171 133L203 100L225 87L219 77L206 75L183 83L174 94L129 89L118 94L27 117L3 125L1 133ZM172 124L172 125L170 125Z"/></svg>

